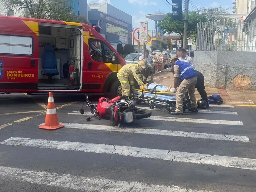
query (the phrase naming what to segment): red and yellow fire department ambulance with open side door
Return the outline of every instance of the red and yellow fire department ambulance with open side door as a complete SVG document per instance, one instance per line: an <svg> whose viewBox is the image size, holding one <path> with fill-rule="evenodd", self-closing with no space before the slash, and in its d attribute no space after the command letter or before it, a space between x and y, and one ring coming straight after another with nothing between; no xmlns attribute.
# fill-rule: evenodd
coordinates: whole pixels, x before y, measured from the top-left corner
<svg viewBox="0 0 256 192"><path fill-rule="evenodd" d="M0 92L120 93L125 60L83 23L0 16Z"/></svg>

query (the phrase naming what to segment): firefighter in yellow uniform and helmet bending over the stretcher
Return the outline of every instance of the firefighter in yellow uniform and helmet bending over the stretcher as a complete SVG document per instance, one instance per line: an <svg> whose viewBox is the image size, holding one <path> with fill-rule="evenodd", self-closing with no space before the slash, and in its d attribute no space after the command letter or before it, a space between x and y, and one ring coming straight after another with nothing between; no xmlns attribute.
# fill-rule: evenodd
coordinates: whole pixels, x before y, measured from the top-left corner
<svg viewBox="0 0 256 192"><path fill-rule="evenodd" d="M148 88L142 80L139 78L138 71L141 68L146 68L147 60L143 59L138 62L138 64L130 63L124 65L117 73L117 78L122 86L122 95L129 96L130 95L130 84L133 85L133 78L140 84L143 85L144 88Z"/></svg>

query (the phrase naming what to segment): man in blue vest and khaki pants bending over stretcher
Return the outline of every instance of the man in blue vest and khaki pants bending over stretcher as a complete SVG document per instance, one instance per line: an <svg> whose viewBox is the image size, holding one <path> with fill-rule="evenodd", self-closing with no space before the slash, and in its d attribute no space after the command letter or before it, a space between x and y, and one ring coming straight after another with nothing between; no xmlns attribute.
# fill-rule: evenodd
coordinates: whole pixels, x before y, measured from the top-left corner
<svg viewBox="0 0 256 192"><path fill-rule="evenodd" d="M171 72L174 74L174 88L177 89L176 110L171 114L183 115L183 95L186 90L191 101L191 109L189 111L198 112L195 96L196 71L189 63L180 61L177 55L171 57L171 64L174 65Z"/></svg>

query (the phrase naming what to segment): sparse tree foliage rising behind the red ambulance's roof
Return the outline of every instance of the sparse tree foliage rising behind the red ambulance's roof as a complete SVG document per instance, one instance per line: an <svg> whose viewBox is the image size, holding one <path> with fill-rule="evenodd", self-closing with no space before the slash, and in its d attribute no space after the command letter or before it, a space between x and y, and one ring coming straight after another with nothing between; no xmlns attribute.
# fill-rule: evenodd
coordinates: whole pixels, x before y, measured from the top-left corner
<svg viewBox="0 0 256 192"><path fill-rule="evenodd" d="M7 10L21 11L23 17L89 23L77 16L68 0L2 0Z"/></svg>

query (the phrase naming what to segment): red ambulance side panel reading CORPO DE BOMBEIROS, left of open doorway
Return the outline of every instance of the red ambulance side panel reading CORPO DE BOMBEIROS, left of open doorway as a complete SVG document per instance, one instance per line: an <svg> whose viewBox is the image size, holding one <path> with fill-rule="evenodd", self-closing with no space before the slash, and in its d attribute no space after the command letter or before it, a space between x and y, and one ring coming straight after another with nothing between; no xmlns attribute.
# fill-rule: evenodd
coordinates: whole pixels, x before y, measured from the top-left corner
<svg viewBox="0 0 256 192"><path fill-rule="evenodd" d="M38 22L1 18L0 28L0 92L37 91Z"/></svg>

